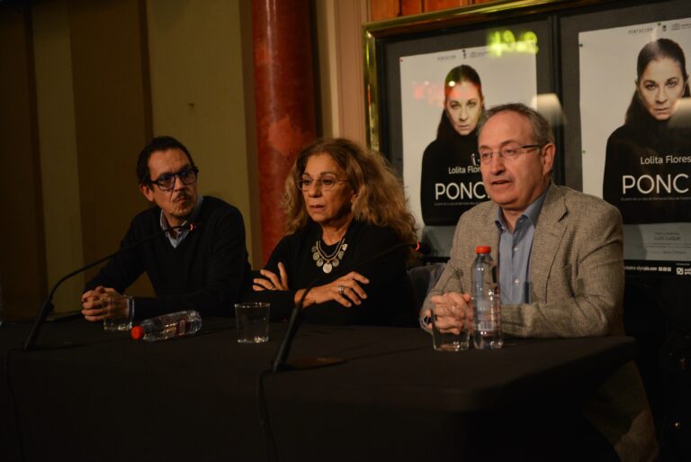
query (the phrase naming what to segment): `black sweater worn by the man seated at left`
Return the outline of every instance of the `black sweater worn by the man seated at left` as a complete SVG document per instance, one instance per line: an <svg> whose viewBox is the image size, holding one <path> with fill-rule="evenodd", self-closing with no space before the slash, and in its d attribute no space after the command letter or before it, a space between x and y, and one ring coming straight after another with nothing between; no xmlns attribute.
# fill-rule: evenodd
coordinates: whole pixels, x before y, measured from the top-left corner
<svg viewBox="0 0 691 462"><path fill-rule="evenodd" d="M121 249L161 231L160 213L154 207L134 217ZM249 282L242 215L232 205L205 196L195 222L199 228L177 248L163 234L112 258L85 291L103 285L122 293L146 271L157 298L135 297L136 319L182 310L231 315Z"/></svg>

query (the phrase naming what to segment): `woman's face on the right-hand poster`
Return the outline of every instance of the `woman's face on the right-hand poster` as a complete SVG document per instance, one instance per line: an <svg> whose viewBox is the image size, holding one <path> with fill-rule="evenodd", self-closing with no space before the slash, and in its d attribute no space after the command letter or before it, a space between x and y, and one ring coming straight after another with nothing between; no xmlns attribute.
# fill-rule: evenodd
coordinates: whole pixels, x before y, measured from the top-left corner
<svg viewBox="0 0 691 462"><path fill-rule="evenodd" d="M674 113L687 82L681 73L679 63L674 59L653 59L638 81L638 94L645 108L659 120L666 121Z"/></svg>

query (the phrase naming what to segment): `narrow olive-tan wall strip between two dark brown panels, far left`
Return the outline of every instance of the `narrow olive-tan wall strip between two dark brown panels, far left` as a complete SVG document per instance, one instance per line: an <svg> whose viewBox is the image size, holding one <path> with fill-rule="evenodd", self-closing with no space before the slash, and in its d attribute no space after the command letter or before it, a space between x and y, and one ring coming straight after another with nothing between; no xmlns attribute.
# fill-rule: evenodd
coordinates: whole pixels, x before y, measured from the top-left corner
<svg viewBox="0 0 691 462"><path fill-rule="evenodd" d="M31 5L48 287L84 266L67 1ZM60 285L56 313L76 310L84 283L76 275Z"/></svg>

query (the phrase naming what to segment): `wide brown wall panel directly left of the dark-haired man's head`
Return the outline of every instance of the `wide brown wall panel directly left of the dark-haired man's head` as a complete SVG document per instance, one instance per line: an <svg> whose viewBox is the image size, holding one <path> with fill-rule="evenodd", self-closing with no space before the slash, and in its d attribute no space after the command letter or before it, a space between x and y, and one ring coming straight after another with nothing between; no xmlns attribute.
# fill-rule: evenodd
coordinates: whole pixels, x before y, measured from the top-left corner
<svg viewBox="0 0 691 462"><path fill-rule="evenodd" d="M148 204L135 175L139 150L152 135L145 14L143 0L69 3L87 262L117 249Z"/></svg>

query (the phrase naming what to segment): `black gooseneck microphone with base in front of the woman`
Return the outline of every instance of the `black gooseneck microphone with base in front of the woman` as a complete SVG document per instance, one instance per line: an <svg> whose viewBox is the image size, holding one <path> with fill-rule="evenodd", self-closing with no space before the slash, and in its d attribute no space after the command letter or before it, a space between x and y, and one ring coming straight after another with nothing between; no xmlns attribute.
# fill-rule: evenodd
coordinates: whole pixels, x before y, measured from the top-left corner
<svg viewBox="0 0 691 462"><path fill-rule="evenodd" d="M388 249L384 249L383 251L375 254L373 257L365 258L362 261L356 262L347 267L340 267L339 274L346 274L349 271L353 271L355 268L362 267L363 265L370 263L376 260L377 258L381 258L396 249L408 247L417 250L419 246L426 246L426 244L422 242L399 242L398 244L394 244L390 246ZM427 249L429 249L429 246L427 246ZM288 327L285 331L285 336L283 337L283 341L281 342L281 345L279 345L278 350L276 350L276 356L274 357L274 361L272 361L271 363L271 370L274 374L276 372L282 372L293 368L331 366L334 364L344 362L344 359L340 358L306 358L292 365L286 362L286 359L288 358L288 355L291 352L292 340L294 339L295 334L298 333L298 329L300 329L300 322L302 318L302 305L305 302L305 297L307 297L307 294L310 293L310 290L312 290L317 284L326 279L327 276L328 275L319 276L315 280L313 280L310 283L310 285L305 287L305 291L302 293L300 300L298 301L298 303L295 304L295 307L292 309L291 317L288 320Z"/></svg>

